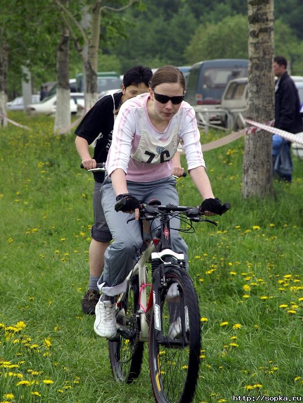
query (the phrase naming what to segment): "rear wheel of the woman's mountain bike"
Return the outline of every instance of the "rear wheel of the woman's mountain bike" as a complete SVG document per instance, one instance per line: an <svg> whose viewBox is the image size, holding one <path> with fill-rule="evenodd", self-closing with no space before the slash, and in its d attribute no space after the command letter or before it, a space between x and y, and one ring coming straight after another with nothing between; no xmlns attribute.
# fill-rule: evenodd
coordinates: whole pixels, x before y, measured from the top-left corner
<svg viewBox="0 0 303 403"><path fill-rule="evenodd" d="M116 315L117 323L132 329L134 329L134 326L137 326L134 321L137 322L138 301L139 284L138 276L135 276L131 281L127 296ZM116 381L131 383L140 374L144 344L138 341L139 331L137 340L128 340L119 333L117 334L117 338L117 341L108 341L112 374Z"/></svg>

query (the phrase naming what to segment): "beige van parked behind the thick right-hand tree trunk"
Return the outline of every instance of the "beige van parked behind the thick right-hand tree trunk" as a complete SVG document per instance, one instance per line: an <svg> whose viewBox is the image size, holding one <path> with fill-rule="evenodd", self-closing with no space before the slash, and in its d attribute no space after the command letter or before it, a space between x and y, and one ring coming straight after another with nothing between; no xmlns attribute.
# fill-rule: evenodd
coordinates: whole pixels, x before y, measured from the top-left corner
<svg viewBox="0 0 303 403"><path fill-rule="evenodd" d="M290 76L294 81L300 102L303 102L303 76ZM228 114L222 114L222 124L225 127L243 128L243 118L247 104L247 77L230 80L222 95L221 108L226 109ZM241 114L241 115L240 115Z"/></svg>

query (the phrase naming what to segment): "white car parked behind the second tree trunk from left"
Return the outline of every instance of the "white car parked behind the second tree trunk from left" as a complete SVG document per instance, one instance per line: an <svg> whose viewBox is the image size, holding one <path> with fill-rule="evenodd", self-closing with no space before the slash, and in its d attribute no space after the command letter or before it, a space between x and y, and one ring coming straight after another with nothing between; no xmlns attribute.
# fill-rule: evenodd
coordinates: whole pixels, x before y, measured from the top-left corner
<svg viewBox="0 0 303 403"><path fill-rule="evenodd" d="M26 111L29 114L42 113L46 115L52 115L56 111L56 99L57 96L46 97L42 102L28 105ZM84 94L73 92L71 93L71 113L76 114L78 112L78 104L83 105L84 108Z"/></svg>

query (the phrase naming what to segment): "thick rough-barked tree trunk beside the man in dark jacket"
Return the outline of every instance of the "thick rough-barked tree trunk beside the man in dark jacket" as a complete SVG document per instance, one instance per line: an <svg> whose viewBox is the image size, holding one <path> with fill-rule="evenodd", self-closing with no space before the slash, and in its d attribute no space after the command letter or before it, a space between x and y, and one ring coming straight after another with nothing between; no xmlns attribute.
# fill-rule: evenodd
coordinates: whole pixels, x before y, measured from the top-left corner
<svg viewBox="0 0 303 403"><path fill-rule="evenodd" d="M274 118L273 0L248 0L249 70L246 116L258 122ZM273 194L272 135L264 130L245 138L242 195Z"/></svg>

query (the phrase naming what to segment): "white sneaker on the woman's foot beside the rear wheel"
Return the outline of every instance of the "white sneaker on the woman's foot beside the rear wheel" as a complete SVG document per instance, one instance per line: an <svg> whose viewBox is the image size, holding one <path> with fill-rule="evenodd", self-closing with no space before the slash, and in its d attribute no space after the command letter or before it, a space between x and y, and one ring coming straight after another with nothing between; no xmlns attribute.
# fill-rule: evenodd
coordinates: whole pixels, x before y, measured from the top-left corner
<svg viewBox="0 0 303 403"><path fill-rule="evenodd" d="M106 339L113 339L117 333L115 303L112 303L110 300L101 301L100 297L95 307L95 314L95 332Z"/></svg>

